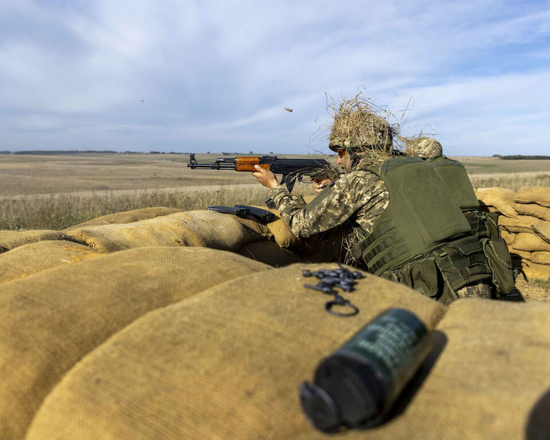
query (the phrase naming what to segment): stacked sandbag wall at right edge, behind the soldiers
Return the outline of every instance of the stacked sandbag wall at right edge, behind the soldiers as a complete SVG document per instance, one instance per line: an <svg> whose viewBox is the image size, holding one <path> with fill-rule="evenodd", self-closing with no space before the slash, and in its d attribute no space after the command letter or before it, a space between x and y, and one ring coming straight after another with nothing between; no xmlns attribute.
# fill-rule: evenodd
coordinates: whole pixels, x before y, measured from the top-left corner
<svg viewBox="0 0 550 440"><path fill-rule="evenodd" d="M550 188L478 188L482 206L498 212L498 225L516 267L530 278L550 277Z"/></svg>

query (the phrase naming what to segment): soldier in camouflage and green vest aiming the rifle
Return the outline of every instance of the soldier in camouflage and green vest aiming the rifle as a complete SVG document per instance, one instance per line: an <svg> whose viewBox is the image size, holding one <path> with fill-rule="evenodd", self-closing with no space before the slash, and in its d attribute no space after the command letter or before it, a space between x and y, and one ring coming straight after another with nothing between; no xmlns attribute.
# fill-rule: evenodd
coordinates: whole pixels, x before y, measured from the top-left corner
<svg viewBox="0 0 550 440"><path fill-rule="evenodd" d="M335 115L329 136L344 174L311 203L291 195L270 171L252 173L272 189L283 220L301 237L347 228L348 252L365 270L442 303L490 298L483 250L441 179L422 159L393 155L386 120L365 107L353 115L362 118L359 130L338 130Z"/></svg>

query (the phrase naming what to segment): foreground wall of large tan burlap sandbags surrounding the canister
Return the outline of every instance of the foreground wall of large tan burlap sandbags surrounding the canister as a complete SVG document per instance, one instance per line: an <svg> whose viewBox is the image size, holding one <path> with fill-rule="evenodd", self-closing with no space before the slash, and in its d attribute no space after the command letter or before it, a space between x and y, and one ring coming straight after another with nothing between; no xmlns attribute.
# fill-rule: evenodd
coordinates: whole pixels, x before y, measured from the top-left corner
<svg viewBox="0 0 550 440"><path fill-rule="evenodd" d="M298 386L390 307L434 331L428 362L391 421L338 438L549 438L549 304L446 307L364 274L340 292L359 314L327 314L303 271L336 264L238 254L316 255L279 225L155 209L0 231L0 439L336 438L309 426Z"/></svg>

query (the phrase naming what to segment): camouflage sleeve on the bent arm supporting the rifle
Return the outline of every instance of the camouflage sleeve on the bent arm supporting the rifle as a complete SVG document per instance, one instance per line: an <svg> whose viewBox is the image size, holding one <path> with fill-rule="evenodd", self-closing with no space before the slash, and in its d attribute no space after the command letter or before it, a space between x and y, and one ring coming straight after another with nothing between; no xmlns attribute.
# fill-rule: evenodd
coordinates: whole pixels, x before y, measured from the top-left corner
<svg viewBox="0 0 550 440"><path fill-rule="evenodd" d="M360 170L340 177L323 190L311 203L291 195L286 186L279 185L270 192L281 217L296 236L307 237L342 225L354 215L369 211L386 187L377 175ZM387 205L386 205L387 206ZM365 217L362 212L360 217Z"/></svg>

